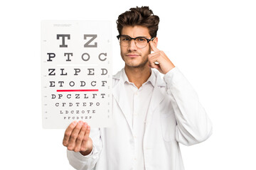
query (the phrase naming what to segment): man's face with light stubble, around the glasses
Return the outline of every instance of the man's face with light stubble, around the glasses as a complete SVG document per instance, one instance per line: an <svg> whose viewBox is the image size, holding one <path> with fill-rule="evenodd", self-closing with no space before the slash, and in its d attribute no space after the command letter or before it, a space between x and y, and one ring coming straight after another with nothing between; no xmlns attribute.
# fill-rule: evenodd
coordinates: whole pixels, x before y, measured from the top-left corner
<svg viewBox="0 0 256 170"><path fill-rule="evenodd" d="M144 26L125 26L122 28L122 35L129 35L131 38L151 38L149 29ZM127 67L144 67L148 62L148 55L151 52L149 43L144 48L138 48L134 40L131 40L128 46L120 45L120 48L122 60L124 60Z"/></svg>

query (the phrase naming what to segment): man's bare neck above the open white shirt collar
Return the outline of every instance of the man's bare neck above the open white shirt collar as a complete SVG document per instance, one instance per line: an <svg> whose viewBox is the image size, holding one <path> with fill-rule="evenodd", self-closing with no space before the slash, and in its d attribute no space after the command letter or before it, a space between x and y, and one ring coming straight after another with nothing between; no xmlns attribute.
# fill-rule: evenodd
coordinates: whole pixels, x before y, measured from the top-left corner
<svg viewBox="0 0 256 170"><path fill-rule="evenodd" d="M138 89L151 75L151 69L147 67L147 64L145 67L127 67L127 65L125 65L124 71L127 74L129 81L134 83Z"/></svg>

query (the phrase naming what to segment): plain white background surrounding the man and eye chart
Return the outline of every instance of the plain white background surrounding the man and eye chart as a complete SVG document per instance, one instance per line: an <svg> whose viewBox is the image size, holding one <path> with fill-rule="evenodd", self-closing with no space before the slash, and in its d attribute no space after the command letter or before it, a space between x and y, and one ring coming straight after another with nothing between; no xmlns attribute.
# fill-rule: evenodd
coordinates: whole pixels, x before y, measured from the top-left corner
<svg viewBox="0 0 256 170"><path fill-rule="evenodd" d="M160 17L159 49L198 92L213 135L181 145L186 170L256 169L256 6L249 0L1 1L0 169L73 169L64 130L41 126L41 20L110 20L113 74L124 64L117 16L149 6Z"/></svg>

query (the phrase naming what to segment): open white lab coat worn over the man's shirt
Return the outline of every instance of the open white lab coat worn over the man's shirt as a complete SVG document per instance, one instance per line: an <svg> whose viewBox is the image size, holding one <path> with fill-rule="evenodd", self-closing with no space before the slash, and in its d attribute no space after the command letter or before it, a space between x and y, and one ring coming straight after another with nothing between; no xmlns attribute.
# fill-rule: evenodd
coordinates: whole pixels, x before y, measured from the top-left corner
<svg viewBox="0 0 256 170"><path fill-rule="evenodd" d="M152 70L152 74L156 76L156 86L145 122L145 169L183 170L178 143L194 145L203 142L210 137L212 125L196 92L178 68L171 69L164 79L159 72ZM121 72L113 76L112 91L112 127L91 130L94 148L90 156L68 151L69 162L75 169L134 169L132 114L127 113Z"/></svg>

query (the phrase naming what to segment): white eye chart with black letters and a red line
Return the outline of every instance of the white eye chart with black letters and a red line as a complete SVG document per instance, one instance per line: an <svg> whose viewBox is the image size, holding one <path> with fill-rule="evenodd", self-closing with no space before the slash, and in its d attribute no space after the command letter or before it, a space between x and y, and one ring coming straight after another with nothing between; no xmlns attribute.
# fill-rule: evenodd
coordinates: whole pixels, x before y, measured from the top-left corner
<svg viewBox="0 0 256 170"><path fill-rule="evenodd" d="M43 128L110 125L111 33L110 21L41 22Z"/></svg>

